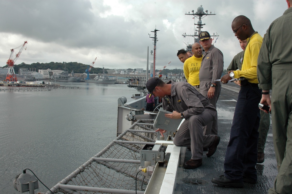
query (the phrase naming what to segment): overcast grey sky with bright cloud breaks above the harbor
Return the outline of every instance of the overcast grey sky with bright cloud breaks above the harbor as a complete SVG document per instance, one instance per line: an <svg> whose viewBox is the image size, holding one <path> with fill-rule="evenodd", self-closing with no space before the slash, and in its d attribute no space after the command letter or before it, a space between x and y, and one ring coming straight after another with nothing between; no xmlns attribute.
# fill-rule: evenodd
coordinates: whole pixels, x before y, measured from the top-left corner
<svg viewBox="0 0 292 194"><path fill-rule="evenodd" d="M156 69L170 61L166 69L181 69L177 51L194 41L182 36L194 34L194 20L185 13L197 11L201 5L204 11L216 14L202 19L206 24L202 30L219 34L214 45L224 55L224 69L241 51L231 29L236 16L248 17L263 36L287 9L285 0L1 0L0 67L6 65L10 49L27 41L27 50L15 64L91 64L97 57L94 67L145 70L147 46L149 52L153 50L148 34L154 36L151 31L156 28ZM149 55L149 67L151 62L153 56Z"/></svg>

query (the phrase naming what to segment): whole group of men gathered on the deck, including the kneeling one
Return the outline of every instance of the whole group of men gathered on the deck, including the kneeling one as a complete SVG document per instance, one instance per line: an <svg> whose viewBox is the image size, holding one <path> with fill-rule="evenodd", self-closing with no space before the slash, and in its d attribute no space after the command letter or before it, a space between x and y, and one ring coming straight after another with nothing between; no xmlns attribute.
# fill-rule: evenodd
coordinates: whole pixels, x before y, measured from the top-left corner
<svg viewBox="0 0 292 194"><path fill-rule="evenodd" d="M193 56L182 50L177 54L184 62L184 73L190 84L164 83L157 78L151 78L146 84L150 93L163 98L163 108L173 111L172 114L166 114L167 117L185 118L174 144L191 148L192 159L185 162L183 167L192 169L202 165L203 148L208 148L206 155L210 157L219 144L215 108L221 83L225 84L233 78L240 79L238 84L241 89L225 154L224 175L214 177L212 182L215 184L243 187L244 182L257 182L256 163L264 160L263 148L270 124L265 124L267 128L259 130L260 133L264 131L259 138L260 120L266 123L270 121L267 111L260 113L260 102L272 110L278 168L274 187L268 192L292 193L292 66L289 66L292 65L292 44L289 41L292 39L292 0L286 2L288 9L272 22L264 39L253 29L246 16L234 18L231 28L240 43L243 42L241 48L244 51L237 59L234 58L237 65L231 64L222 78L223 54L212 45L210 34L201 32L201 45L192 45ZM204 55L201 46L205 50ZM218 79L220 82L216 81ZM272 99L270 89L274 90ZM165 132L163 129L157 131Z"/></svg>

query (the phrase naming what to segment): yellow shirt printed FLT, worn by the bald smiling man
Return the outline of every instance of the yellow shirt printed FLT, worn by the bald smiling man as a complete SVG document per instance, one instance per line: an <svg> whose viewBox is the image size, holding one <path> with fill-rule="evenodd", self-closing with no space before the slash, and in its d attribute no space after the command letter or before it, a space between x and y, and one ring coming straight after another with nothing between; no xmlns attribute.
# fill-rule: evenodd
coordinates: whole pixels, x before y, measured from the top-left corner
<svg viewBox="0 0 292 194"><path fill-rule="evenodd" d="M194 55L187 60L183 65L183 72L187 82L191 85L200 85L199 70L201 68L202 57L197 58Z"/></svg>

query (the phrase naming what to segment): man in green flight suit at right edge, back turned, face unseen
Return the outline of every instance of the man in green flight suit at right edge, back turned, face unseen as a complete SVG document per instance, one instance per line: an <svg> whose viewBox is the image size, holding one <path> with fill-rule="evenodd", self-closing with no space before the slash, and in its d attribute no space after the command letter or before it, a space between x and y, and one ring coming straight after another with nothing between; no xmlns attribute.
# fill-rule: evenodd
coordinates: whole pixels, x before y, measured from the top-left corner
<svg viewBox="0 0 292 194"><path fill-rule="evenodd" d="M270 106L272 112L278 168L269 194L292 193L292 0L286 2L288 9L267 29L258 56L257 75L263 92L260 103Z"/></svg>

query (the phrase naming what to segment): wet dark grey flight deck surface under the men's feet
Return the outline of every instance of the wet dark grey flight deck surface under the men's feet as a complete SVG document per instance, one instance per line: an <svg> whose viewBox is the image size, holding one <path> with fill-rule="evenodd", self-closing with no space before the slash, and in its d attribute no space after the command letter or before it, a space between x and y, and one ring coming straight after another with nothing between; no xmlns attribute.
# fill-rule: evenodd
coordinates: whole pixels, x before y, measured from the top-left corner
<svg viewBox="0 0 292 194"><path fill-rule="evenodd" d="M228 84L234 86L234 84ZM203 155L203 165L197 169L183 169L184 161L191 159L191 151L182 151L181 162L178 171L177 185L175 194L178 193L245 193L260 194L267 193L267 190L273 186L274 179L277 175L277 162L275 159L272 125L268 132L265 144L265 161L257 164L258 182L256 184L244 183L243 188L230 188L217 186L211 183L213 177L224 174L224 157L229 142L230 128L232 124L234 108L237 101L238 92L231 91L222 87L219 100L217 102L218 111L218 135L221 137L217 151L210 158L206 157L206 151Z"/></svg>

